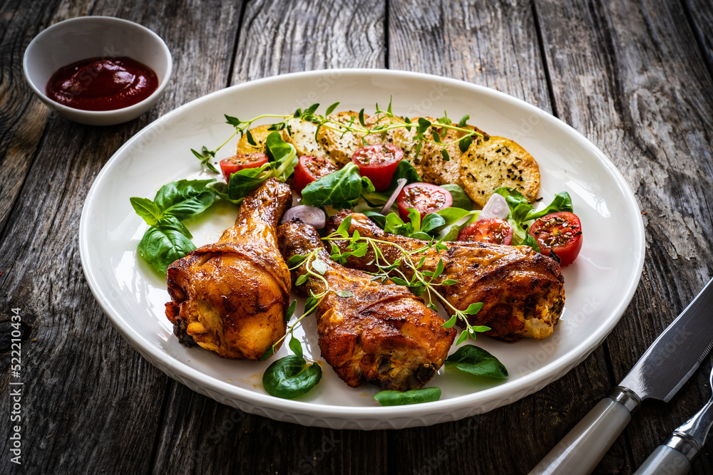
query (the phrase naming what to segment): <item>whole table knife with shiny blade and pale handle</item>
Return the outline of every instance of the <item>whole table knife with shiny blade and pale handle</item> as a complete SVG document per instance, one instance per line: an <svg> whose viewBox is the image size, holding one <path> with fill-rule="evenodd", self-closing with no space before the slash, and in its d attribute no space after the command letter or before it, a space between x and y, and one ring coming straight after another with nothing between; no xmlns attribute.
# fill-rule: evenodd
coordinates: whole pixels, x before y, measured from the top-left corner
<svg viewBox="0 0 713 475"><path fill-rule="evenodd" d="M628 375L530 471L590 474L643 400L669 402L713 346L713 279L668 325Z"/></svg>

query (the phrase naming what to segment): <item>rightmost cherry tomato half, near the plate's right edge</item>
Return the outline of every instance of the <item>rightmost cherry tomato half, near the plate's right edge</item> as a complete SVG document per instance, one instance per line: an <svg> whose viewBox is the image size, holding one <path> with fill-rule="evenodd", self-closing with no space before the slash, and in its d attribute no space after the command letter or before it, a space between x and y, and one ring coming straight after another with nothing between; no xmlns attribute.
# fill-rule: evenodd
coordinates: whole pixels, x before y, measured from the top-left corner
<svg viewBox="0 0 713 475"><path fill-rule="evenodd" d="M528 232L542 254L549 256L550 251L557 254L561 266L572 263L582 249L582 224L574 213L562 211L543 216L535 220Z"/></svg>

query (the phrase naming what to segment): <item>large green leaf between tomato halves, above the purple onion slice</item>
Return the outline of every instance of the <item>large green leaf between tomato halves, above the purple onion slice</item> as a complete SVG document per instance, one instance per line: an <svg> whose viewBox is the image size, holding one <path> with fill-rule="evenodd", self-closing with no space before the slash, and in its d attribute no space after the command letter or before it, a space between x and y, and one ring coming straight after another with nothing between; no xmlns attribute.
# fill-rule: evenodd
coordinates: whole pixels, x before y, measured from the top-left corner
<svg viewBox="0 0 713 475"><path fill-rule="evenodd" d="M371 182L369 182L371 184ZM302 203L311 206L351 207L361 196L359 167L349 162L337 172L315 180L302 190Z"/></svg>

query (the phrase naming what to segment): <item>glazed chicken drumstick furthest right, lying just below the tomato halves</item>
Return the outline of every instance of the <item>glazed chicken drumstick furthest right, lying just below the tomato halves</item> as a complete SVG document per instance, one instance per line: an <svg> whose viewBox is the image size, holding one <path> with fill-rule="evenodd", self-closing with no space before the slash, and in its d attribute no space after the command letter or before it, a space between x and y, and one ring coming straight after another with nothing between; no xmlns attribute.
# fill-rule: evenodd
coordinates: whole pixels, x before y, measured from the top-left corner
<svg viewBox="0 0 713 475"><path fill-rule="evenodd" d="M349 234L355 230L362 237L376 238L399 244L406 250L421 249L427 241L387 234L364 214L349 210L339 212L327 221L331 233L347 216L352 216ZM341 241L338 241L341 242ZM457 283L438 287L438 292L459 310L471 303L482 302L483 308L468 317L471 325L487 325L485 335L502 340L516 341L522 337L541 340L552 334L565 305L564 278L560 265L554 259L533 251L529 246L500 246L479 242L446 242L446 251L435 248L415 259L424 257L422 271L434 271L438 260L443 259L443 279ZM347 244L339 247L344 251ZM379 249L389 262L401 258L400 251L389 244L379 244ZM373 252L364 257L350 256L347 266L363 271L376 271L371 263ZM401 271L409 278L409 268Z"/></svg>

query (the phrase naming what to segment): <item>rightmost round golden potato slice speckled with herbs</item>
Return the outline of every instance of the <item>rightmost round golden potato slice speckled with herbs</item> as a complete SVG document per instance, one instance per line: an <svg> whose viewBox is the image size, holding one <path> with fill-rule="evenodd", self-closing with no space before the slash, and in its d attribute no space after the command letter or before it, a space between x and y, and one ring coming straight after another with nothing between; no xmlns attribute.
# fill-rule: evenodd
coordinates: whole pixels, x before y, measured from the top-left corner
<svg viewBox="0 0 713 475"><path fill-rule="evenodd" d="M463 189L481 207L498 187L511 187L533 202L540 190L540 167L523 147L503 137L473 140L461 155Z"/></svg>

